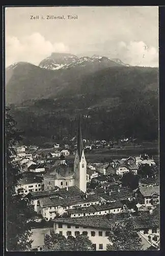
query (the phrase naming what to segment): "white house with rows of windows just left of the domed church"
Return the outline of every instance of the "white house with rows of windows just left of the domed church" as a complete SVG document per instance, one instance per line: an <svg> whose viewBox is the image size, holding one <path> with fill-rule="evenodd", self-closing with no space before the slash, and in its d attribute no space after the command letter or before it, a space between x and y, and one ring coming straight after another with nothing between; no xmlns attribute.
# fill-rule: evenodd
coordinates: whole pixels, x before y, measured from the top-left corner
<svg viewBox="0 0 165 256"><path fill-rule="evenodd" d="M43 184L43 179L41 177L28 177L20 179L18 186L16 187L16 192L18 189L23 189L23 193L28 195L32 191L41 191Z"/></svg>

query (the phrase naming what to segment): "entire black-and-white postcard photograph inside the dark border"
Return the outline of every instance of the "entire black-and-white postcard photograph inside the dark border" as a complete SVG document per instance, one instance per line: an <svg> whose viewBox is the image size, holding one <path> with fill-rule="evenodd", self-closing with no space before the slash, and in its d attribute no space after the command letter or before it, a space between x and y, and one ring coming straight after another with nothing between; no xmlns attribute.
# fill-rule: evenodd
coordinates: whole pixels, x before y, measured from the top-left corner
<svg viewBox="0 0 165 256"><path fill-rule="evenodd" d="M160 250L158 6L4 9L5 250Z"/></svg>

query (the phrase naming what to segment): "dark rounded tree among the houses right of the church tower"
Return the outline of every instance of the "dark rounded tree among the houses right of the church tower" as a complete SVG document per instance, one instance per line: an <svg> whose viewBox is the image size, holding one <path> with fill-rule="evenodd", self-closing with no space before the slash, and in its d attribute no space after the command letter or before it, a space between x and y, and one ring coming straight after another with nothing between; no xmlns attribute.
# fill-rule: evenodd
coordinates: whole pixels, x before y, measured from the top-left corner
<svg viewBox="0 0 165 256"><path fill-rule="evenodd" d="M131 189L135 189L139 186L139 178L131 172L123 174L121 181L123 186L129 186Z"/></svg>

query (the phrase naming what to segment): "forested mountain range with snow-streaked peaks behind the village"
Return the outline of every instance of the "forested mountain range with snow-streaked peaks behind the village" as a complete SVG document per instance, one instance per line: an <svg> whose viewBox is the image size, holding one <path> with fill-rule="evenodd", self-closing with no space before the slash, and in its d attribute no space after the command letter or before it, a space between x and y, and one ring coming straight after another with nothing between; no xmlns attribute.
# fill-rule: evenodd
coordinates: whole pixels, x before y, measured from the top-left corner
<svg viewBox="0 0 165 256"><path fill-rule="evenodd" d="M6 103L32 140L74 135L78 113L90 116L82 124L90 137L151 140L158 134L158 68L52 53L39 66L18 62L6 69Z"/></svg>

